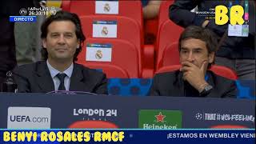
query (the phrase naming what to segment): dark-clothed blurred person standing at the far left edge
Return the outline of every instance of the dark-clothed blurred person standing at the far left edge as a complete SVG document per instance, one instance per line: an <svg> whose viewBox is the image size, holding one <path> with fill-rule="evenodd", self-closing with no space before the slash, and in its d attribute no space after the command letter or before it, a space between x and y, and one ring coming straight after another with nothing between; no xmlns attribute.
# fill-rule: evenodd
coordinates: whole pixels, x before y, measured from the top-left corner
<svg viewBox="0 0 256 144"><path fill-rule="evenodd" d="M15 55L14 22L10 16L20 15L22 8L39 6L40 0L7 0L0 5L0 86L6 79L6 72L17 65ZM26 43L26 42L24 42Z"/></svg>

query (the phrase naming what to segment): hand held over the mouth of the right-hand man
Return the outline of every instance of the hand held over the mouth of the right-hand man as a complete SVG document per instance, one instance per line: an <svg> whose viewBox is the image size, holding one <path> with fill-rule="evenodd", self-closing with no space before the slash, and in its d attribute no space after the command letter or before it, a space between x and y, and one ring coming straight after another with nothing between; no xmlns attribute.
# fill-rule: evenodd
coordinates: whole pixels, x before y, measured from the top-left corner
<svg viewBox="0 0 256 144"><path fill-rule="evenodd" d="M202 66L198 68L191 62L182 62L181 71L183 72L183 79L190 83L199 92L208 85L205 80L205 73L207 70L208 62L203 62Z"/></svg>

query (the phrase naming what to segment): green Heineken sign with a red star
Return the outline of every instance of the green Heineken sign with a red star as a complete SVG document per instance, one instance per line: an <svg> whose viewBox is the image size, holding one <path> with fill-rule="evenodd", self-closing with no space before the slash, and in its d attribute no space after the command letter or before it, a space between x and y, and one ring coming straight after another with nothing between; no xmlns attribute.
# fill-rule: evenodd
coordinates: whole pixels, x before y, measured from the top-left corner
<svg viewBox="0 0 256 144"><path fill-rule="evenodd" d="M182 128L182 112L180 110L140 110L138 116L138 128Z"/></svg>

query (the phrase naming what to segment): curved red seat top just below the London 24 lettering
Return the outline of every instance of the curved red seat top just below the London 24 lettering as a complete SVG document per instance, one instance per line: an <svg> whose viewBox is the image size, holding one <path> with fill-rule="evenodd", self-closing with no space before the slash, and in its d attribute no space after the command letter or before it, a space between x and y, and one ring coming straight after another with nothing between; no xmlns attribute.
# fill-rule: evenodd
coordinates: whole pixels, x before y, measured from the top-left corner
<svg viewBox="0 0 256 144"><path fill-rule="evenodd" d="M78 121L68 126L69 129L118 129L114 123L105 121Z"/></svg>

